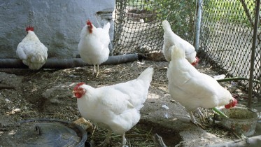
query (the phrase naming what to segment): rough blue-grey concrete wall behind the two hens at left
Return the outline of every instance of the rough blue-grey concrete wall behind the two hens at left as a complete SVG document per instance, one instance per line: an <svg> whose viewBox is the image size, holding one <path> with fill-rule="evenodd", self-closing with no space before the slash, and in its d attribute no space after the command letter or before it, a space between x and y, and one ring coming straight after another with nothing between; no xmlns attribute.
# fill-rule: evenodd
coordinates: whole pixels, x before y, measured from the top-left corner
<svg viewBox="0 0 261 147"><path fill-rule="evenodd" d="M18 43L31 25L48 48L48 57L78 55L80 31L89 19L95 26L111 22L115 0L0 0L0 58L17 58Z"/></svg>

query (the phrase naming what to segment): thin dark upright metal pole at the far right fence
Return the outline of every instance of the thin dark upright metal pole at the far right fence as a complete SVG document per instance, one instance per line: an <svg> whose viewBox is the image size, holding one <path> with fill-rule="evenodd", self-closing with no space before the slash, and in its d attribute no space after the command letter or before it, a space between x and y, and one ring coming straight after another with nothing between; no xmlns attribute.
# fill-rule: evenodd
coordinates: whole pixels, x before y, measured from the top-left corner
<svg viewBox="0 0 261 147"><path fill-rule="evenodd" d="M255 8L255 25L253 32L253 43L252 43L252 52L251 52L251 64L250 64L250 75L249 75L249 85L248 85L248 108L251 108L252 104L252 88L253 88L253 73L254 73L254 64L255 64L255 48L258 37L258 23L259 23L259 13L260 13L260 0L256 1Z"/></svg>

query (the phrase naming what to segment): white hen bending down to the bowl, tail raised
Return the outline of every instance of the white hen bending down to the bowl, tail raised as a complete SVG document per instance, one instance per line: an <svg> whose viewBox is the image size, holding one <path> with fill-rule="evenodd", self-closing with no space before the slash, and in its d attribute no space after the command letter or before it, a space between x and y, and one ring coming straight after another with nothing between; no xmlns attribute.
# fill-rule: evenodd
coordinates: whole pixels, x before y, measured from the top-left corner
<svg viewBox="0 0 261 147"><path fill-rule="evenodd" d="M209 109L225 105L226 109L230 109L237 105L237 99L228 90L211 76L197 71L185 59L184 50L176 46L172 46L171 50L171 62L167 70L169 93L190 113L192 123L199 124L192 114L195 110L199 112L201 120L204 120L199 107Z"/></svg>

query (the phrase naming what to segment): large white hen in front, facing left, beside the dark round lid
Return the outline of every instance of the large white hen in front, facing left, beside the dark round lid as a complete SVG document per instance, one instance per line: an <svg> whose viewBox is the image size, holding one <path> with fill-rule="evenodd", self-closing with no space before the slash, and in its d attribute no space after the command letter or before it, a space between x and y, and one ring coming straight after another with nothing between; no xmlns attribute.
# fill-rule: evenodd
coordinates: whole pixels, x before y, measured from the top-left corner
<svg viewBox="0 0 261 147"><path fill-rule="evenodd" d="M153 68L148 67L138 78L125 83L98 88L78 83L74 87L83 118L108 130L102 145L109 144L111 132L114 132L122 135L121 146L125 146L125 132L140 120L140 109L147 99L152 76Z"/></svg>

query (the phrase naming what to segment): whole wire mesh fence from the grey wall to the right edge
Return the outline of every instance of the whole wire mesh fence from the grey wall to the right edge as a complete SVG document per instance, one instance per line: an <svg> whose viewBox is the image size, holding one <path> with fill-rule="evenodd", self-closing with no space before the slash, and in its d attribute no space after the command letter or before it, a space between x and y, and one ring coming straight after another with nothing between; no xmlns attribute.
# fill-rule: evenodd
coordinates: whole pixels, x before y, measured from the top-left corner
<svg viewBox="0 0 261 147"><path fill-rule="evenodd" d="M201 21L196 15L199 10ZM195 28L200 27L199 57L217 66L219 73L240 79L260 100L258 15L260 0L116 0L113 55L138 53L160 61L164 59L162 20L168 20L171 29L192 44Z"/></svg>

